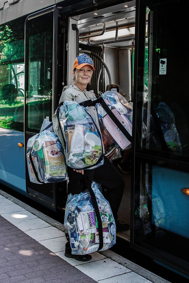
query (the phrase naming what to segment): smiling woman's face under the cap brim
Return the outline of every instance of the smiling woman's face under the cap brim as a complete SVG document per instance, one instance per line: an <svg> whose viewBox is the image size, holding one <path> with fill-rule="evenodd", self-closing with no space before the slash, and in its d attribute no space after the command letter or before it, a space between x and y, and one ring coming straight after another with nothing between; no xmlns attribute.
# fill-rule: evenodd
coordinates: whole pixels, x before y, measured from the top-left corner
<svg viewBox="0 0 189 283"><path fill-rule="evenodd" d="M82 86L86 86L92 77L93 70L90 65L85 65L79 70L75 69L73 75L75 76L75 82L79 83Z"/></svg>

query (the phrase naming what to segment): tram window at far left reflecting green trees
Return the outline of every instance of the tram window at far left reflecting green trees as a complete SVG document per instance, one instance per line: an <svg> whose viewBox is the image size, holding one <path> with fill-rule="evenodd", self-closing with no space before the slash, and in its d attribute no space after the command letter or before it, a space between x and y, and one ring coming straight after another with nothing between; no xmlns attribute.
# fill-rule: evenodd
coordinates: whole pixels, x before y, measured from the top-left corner
<svg viewBox="0 0 189 283"><path fill-rule="evenodd" d="M0 26L0 127L24 131L24 19Z"/></svg>

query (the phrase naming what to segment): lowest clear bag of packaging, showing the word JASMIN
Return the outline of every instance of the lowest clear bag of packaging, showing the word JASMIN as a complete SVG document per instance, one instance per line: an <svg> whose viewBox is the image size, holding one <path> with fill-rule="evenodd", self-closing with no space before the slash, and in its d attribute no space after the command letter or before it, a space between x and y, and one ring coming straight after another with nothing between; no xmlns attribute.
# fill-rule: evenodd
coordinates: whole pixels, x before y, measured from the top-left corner
<svg viewBox="0 0 189 283"><path fill-rule="evenodd" d="M102 248L106 250L116 243L116 225L109 202L98 189L99 184L92 182L102 227ZM69 234L72 254L89 254L99 250L100 225L97 221L97 211L94 209L89 190L80 194L69 194L64 226Z"/></svg>

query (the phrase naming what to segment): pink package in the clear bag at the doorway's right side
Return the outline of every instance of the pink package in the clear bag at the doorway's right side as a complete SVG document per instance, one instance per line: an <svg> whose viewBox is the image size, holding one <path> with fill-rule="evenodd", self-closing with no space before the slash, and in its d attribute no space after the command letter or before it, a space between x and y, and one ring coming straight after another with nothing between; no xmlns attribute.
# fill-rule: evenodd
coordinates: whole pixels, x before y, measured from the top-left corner
<svg viewBox="0 0 189 283"><path fill-rule="evenodd" d="M124 116L120 115L116 109L112 109L112 113L116 116L116 118L122 123L124 128L129 132L131 135L132 133L132 124L131 122ZM128 145L130 145L130 141L124 136L124 134L120 131L120 129L116 126L116 124L112 121L109 115L105 115L103 118L104 126L106 127L107 131L111 134L112 138L115 140L117 145L120 147L121 150L125 150Z"/></svg>

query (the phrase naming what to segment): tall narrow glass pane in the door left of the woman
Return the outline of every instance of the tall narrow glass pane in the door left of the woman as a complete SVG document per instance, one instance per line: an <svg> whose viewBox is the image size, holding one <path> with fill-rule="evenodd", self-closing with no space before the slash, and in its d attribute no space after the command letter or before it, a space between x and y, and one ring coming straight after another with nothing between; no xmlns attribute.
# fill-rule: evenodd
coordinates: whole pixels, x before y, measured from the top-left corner
<svg viewBox="0 0 189 283"><path fill-rule="evenodd" d="M38 131L52 116L53 15L27 22L26 130Z"/></svg>

